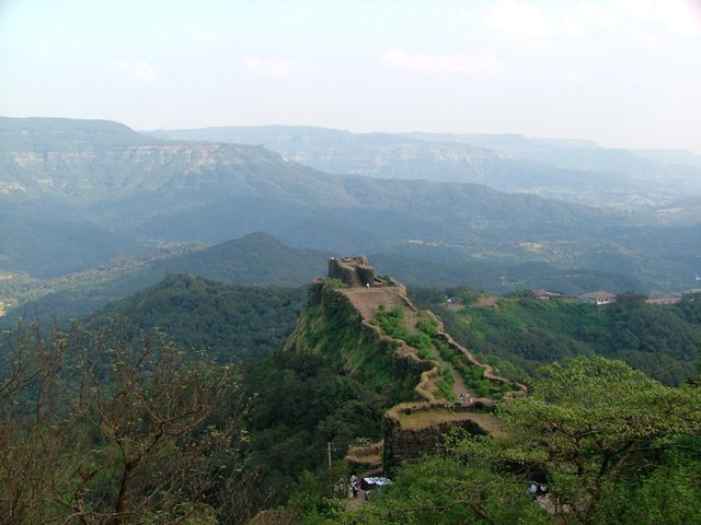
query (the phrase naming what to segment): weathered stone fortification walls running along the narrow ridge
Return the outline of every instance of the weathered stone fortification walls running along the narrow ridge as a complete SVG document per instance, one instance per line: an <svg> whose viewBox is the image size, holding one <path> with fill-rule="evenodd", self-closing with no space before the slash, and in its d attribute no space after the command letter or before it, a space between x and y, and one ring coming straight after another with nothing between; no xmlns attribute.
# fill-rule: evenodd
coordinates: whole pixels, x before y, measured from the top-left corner
<svg viewBox="0 0 701 525"><path fill-rule="evenodd" d="M329 288L324 285L323 280L319 280L312 284L310 301L313 304L320 304L324 316L329 319L337 318L343 324L340 326L347 326L347 323L356 324L355 326L359 329L358 340L365 346L365 351L367 352L370 347L370 352L377 352L378 355L383 357L382 359L391 357L389 366L391 366L392 376L398 381L412 382L405 383L405 389L402 392L409 393L413 388L414 399L409 400L411 396L406 396L406 402L390 407L384 415L387 430L381 445L384 471L389 474L401 463L417 459L422 455L435 451L444 442L444 435L450 428L459 427L474 434L498 433L498 427L495 428L493 423L494 417L484 416L485 412L494 411L494 402L483 399L466 405L437 399L433 390L439 376L439 363L436 360L421 359L415 348L403 340L383 334L378 326L370 324L378 310L378 305L374 303L377 301L382 301L383 304L388 304L388 302L389 304L401 304L411 313L410 317L413 315L414 318L418 316L418 311L406 296L405 287L392 279L383 278L381 281L376 281L380 289L353 290L353 287L358 287L358 275L365 276L365 278L370 275L374 279L375 277L374 273L357 272L357 269L360 268L359 265L367 264L366 258L352 260L355 264L352 266L354 271L349 271L349 266L342 264L340 259L331 259L329 262L331 278L340 279L346 284L348 280L355 279L355 284L347 284L352 287L350 289ZM430 312L426 314L437 322L436 337L453 351L461 353L469 363L482 368L485 378L512 385L510 382L501 377L492 366L479 362L469 350L458 345L450 335L446 334L443 323L434 314ZM303 327L298 328L303 329ZM290 341L294 341L294 338L290 338ZM354 370L349 370L349 372L354 373ZM526 387L517 385L517 390L508 393L507 396L525 393ZM425 419L432 422L421 427L421 424L415 424L416 419L414 419L412 424L403 427L402 421L407 421L407 415L417 412L426 412L429 417ZM438 412L441 412L441 417L434 418ZM479 416L480 413L482 416ZM491 418L491 420L486 421L485 418ZM417 419L423 422L424 418ZM486 427L483 428L480 424ZM489 429L489 432L485 429ZM379 446L376 444L369 448L355 447L348 452L348 460L355 465L370 466L376 464Z"/></svg>

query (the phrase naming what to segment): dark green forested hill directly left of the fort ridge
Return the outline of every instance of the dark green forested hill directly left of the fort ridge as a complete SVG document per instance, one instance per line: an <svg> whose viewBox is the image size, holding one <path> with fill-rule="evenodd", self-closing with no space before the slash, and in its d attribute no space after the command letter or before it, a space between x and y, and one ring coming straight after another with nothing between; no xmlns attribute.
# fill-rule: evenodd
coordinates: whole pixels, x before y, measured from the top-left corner
<svg viewBox="0 0 701 525"><path fill-rule="evenodd" d="M96 312L90 324L118 315L141 329L158 327L179 345L220 363L283 348L307 300L307 287L234 287L189 276L158 284Z"/></svg>

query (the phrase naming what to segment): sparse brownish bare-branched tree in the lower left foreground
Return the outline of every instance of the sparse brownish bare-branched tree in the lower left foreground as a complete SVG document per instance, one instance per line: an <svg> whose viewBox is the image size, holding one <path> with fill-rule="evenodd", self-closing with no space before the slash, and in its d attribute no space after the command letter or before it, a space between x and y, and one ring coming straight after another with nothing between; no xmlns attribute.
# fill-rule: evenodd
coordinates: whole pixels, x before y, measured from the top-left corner
<svg viewBox="0 0 701 525"><path fill-rule="evenodd" d="M242 501L231 514L251 482L231 368L116 319L20 326L0 354L2 523L246 517Z"/></svg>

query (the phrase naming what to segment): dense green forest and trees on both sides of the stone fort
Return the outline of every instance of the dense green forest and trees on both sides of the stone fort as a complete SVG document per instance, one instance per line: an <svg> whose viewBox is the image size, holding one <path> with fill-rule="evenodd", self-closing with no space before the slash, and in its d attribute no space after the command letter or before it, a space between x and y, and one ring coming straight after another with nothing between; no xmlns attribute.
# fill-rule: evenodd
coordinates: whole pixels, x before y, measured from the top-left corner
<svg viewBox="0 0 701 525"><path fill-rule="evenodd" d="M358 506L334 495L342 458L417 376L315 290L169 276L84 324L4 330L3 523L552 523L549 504L572 524L699 521L698 296L413 290L532 395L499 404L506 438L450 434Z"/></svg>

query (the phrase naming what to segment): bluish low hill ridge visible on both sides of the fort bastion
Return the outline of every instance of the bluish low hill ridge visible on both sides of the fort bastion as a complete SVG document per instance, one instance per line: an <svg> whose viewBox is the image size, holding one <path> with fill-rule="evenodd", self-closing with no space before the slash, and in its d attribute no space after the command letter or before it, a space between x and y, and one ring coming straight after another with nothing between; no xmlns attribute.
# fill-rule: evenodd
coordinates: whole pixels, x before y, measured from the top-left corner
<svg viewBox="0 0 701 525"><path fill-rule="evenodd" d="M445 255L445 254L444 254ZM141 256L117 256L106 264L53 279L3 273L0 325L18 315L81 317L111 301L137 293L169 273L186 273L230 284L300 287L325 272L329 254L294 248L265 233L252 233L214 246L173 245ZM381 273L412 287L467 285L493 293L548 288L570 294L590 290L644 291L621 275L559 270L545 264L487 264L462 257L426 259L425 250L372 255ZM449 259L449 260L446 260Z"/></svg>

